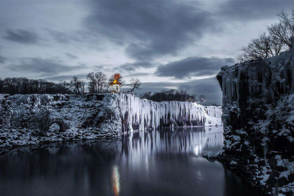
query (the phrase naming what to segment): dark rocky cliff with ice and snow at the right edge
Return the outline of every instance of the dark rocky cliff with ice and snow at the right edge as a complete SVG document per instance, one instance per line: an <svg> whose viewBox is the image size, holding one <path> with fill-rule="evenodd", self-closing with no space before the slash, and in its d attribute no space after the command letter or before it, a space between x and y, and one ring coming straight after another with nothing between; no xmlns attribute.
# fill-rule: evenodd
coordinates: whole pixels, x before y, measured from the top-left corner
<svg viewBox="0 0 294 196"><path fill-rule="evenodd" d="M268 195L294 194L294 49L224 66L220 160Z"/></svg>

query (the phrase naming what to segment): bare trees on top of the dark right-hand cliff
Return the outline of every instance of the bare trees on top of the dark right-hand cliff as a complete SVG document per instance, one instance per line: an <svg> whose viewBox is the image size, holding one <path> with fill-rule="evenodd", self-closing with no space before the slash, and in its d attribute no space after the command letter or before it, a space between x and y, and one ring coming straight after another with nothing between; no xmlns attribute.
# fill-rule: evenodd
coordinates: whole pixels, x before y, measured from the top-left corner
<svg viewBox="0 0 294 196"><path fill-rule="evenodd" d="M269 58L285 49L292 48L291 37L294 36L294 9L291 13L284 10L277 14L279 22L267 25L267 32L262 32L252 39L248 46L242 47L237 59L245 62L251 59Z"/></svg>

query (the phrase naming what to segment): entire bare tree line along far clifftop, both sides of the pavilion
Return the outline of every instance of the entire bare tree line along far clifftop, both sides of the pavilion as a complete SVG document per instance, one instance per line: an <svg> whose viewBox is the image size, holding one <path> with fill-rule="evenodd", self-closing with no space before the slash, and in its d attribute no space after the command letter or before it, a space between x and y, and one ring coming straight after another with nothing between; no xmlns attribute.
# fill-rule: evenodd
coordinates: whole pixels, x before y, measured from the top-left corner
<svg viewBox="0 0 294 196"><path fill-rule="evenodd" d="M115 73L107 79L106 74L102 72L89 73L87 75L88 92L103 93L109 92L110 83L115 79L125 84L123 76L120 73ZM25 77L6 77L0 78L0 93L1 94L77 94L84 95L86 93L86 81L73 76L70 82L64 80L58 83L49 82L44 79L28 79ZM127 92L134 92L141 88L142 82L138 78L131 78L127 84L130 89ZM153 101L197 101L202 103L205 101L203 95L190 95L186 90L162 90L160 92L146 92L140 95L141 98L146 98Z"/></svg>

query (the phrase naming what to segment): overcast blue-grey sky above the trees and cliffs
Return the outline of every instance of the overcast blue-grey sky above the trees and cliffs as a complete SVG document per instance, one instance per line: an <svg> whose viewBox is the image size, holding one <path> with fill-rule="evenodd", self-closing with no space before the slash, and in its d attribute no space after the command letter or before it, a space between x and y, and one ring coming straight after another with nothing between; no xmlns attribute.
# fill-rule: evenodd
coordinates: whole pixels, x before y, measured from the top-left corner
<svg viewBox="0 0 294 196"><path fill-rule="evenodd" d="M215 78L293 1L0 1L0 77L138 77L221 104Z"/></svg>

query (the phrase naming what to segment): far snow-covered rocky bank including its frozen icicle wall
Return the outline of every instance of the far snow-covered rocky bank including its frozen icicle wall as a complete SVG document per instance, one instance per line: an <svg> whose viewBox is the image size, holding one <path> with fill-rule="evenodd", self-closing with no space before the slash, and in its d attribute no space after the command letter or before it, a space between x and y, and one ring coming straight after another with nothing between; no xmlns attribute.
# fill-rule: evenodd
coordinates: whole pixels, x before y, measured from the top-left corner
<svg viewBox="0 0 294 196"><path fill-rule="evenodd" d="M1 152L20 146L103 140L133 130L162 126L221 124L222 111L217 106L153 102L123 93L102 97L102 100L96 100L73 95L1 94ZM56 123L49 123L52 119L58 119L69 129L60 132ZM47 125L48 130L40 130Z"/></svg>

